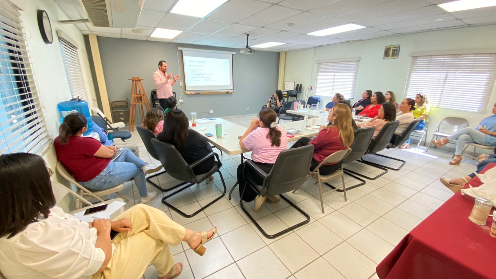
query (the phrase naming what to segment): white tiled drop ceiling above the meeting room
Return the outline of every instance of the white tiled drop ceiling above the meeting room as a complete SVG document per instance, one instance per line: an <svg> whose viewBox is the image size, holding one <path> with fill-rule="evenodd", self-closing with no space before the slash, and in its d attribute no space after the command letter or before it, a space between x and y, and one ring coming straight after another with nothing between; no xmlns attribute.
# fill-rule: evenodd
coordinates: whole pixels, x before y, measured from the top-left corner
<svg viewBox="0 0 496 279"><path fill-rule="evenodd" d="M81 7L57 0L69 19ZM448 13L435 4L451 0L228 0L205 18L170 13L177 0L145 0L135 28L77 24L84 34L230 48L281 42L268 51L291 51L469 25L496 24L496 7ZM74 2L72 2L74 3ZM367 28L324 37L306 33L347 23ZM176 38L149 37L156 27L184 31Z"/></svg>

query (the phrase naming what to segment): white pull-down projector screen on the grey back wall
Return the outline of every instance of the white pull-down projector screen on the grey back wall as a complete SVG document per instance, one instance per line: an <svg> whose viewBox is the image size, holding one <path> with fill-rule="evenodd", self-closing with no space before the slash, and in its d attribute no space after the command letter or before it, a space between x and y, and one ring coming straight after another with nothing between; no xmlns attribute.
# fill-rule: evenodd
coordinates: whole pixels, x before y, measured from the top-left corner
<svg viewBox="0 0 496 279"><path fill-rule="evenodd" d="M234 90L232 52L183 49L183 70L186 93Z"/></svg>

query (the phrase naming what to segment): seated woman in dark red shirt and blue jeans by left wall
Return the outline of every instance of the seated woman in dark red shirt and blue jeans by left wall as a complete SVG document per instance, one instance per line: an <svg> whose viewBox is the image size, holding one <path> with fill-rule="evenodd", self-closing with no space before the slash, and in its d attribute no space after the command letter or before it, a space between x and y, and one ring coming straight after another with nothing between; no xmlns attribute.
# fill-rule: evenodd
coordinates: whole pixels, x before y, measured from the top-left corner
<svg viewBox="0 0 496 279"><path fill-rule="evenodd" d="M156 172L162 165L146 163L127 148L111 160L117 148L103 145L97 139L82 137L87 129L86 117L71 113L63 120L60 135L54 140L57 158L74 179L88 189L101 191L134 178L141 203L153 200L157 193L146 190L145 173Z"/></svg>

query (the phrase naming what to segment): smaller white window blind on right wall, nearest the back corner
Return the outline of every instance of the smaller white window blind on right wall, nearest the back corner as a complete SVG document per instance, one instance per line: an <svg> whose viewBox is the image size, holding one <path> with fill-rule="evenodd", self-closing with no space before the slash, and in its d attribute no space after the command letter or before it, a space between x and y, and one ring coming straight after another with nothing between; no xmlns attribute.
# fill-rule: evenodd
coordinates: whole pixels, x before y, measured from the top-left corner
<svg viewBox="0 0 496 279"><path fill-rule="evenodd" d="M358 60L317 63L315 95L332 97L340 93L345 98L353 98L358 63Z"/></svg>

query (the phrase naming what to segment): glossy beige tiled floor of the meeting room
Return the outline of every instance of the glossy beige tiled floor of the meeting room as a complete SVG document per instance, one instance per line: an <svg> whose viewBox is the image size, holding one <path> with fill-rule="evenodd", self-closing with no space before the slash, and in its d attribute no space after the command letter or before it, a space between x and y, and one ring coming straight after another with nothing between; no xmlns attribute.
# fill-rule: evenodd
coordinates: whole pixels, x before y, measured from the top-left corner
<svg viewBox="0 0 496 279"><path fill-rule="evenodd" d="M226 119L248 127L253 116L226 117ZM129 142L140 148L140 157L145 161L157 162L149 156L137 132ZM214 149L215 151L216 149ZM475 161L464 160L459 166L448 161L452 153L431 148L428 153L414 148L408 150L386 149L381 153L407 161L400 171L389 171L376 180L347 191L348 201L341 193L324 196L325 213L320 211L318 188L307 181L295 194L285 196L311 216L310 223L276 239L261 235L250 223L239 206L239 193L233 199L226 197L192 218L185 218L161 203L163 193L148 205L165 211L176 222L193 230L208 230L219 227L218 236L206 244L205 256L199 257L187 245L171 247L176 261L184 263L186 278L226 279L285 279L285 278L377 278L375 267L394 246L417 224L449 199L453 194L438 178L460 177L475 170ZM246 154L249 157L249 154ZM367 159L385 164L397 163L378 156ZM236 182L236 168L240 156L221 156L224 164L222 174L227 190ZM346 167L362 173L376 174L380 170L361 163L350 163ZM234 176L234 177L233 177ZM346 176L347 185L357 180ZM177 181L165 174L158 177L158 183L169 187ZM331 184L340 182L331 182ZM149 185L150 189L153 189ZM191 187L169 202L192 212L207 204L222 192L219 175L213 184ZM324 189L323 189L324 190ZM325 188L328 191L329 188ZM139 195L131 182L126 183L125 196L130 198L127 207L139 202ZM250 204L248 208L252 207ZM252 215L270 233L300 222L296 210L281 202L267 202ZM144 279L156 278L153 266L148 267Z"/></svg>

